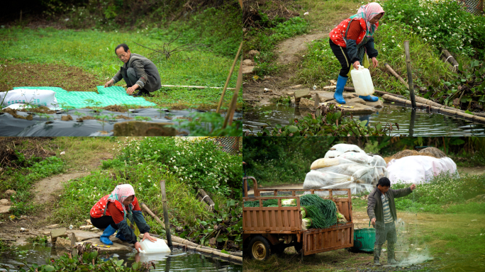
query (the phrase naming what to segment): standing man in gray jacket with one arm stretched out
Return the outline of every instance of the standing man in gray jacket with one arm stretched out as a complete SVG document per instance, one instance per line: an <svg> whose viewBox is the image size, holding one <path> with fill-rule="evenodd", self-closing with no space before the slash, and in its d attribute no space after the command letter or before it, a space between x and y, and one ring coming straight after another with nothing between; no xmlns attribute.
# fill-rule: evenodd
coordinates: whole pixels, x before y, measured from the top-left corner
<svg viewBox="0 0 485 272"><path fill-rule="evenodd" d="M367 215L376 229L376 242L374 243L374 264L379 266L382 245L387 240L387 263L396 264L394 257L394 244L397 242L396 225L397 219L396 204L394 198L408 196L416 188L416 184L409 188L399 190L390 189L391 181L387 178L379 179L377 187L367 198Z"/></svg>

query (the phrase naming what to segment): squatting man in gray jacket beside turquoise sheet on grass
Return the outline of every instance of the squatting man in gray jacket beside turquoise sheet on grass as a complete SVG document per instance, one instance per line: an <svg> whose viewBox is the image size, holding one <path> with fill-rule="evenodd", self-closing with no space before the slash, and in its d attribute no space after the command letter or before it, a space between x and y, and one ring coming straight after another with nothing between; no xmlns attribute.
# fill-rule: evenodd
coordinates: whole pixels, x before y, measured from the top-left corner
<svg viewBox="0 0 485 272"><path fill-rule="evenodd" d="M152 61L142 55L130 52L128 45L122 43L115 48L116 56L124 63L120 71L110 81L104 84L104 87L113 86L116 82L124 79L128 89L126 94L133 94L136 89L140 89L133 96L145 94L150 96L150 92L157 91L162 87L160 83L160 74Z"/></svg>

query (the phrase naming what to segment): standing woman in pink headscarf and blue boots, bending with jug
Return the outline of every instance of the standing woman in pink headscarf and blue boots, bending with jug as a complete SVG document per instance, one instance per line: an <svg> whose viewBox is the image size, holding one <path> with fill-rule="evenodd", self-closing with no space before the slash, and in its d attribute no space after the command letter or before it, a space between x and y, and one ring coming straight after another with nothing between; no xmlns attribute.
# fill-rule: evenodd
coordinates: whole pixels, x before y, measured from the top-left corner
<svg viewBox="0 0 485 272"><path fill-rule="evenodd" d="M367 52L372 65L377 67L378 52L374 48L374 33L379 26L379 20L384 16L384 10L377 3L369 3L361 6L357 14L345 19L338 26L330 31L330 48L337 57L342 69L338 75L337 86L333 97L338 103L345 104L343 98L344 86L347 83L348 73L351 66L359 69L362 64L364 54ZM359 96L364 101L375 102L379 98L376 96Z"/></svg>

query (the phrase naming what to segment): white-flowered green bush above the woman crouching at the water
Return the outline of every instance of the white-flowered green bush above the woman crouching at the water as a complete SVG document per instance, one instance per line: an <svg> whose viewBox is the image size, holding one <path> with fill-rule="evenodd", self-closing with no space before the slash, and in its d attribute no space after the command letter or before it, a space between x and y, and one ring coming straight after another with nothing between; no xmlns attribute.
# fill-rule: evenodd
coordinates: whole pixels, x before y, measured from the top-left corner
<svg viewBox="0 0 485 272"><path fill-rule="evenodd" d="M125 163L136 166L150 162L160 169L177 176L195 192L204 188L221 196L240 196L242 158L223 150L212 140L184 140L174 137L147 137L130 141L121 154L103 165Z"/></svg>

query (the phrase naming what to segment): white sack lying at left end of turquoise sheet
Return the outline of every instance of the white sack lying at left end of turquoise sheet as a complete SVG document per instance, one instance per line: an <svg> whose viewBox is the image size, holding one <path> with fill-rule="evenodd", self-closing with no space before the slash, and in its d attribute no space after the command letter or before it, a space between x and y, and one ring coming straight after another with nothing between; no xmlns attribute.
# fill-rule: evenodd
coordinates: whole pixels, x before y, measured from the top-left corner
<svg viewBox="0 0 485 272"><path fill-rule="evenodd" d="M50 90L15 89L8 92L4 91L0 93L0 101L4 101L1 105L2 107L17 103L46 106L48 108L57 108L58 106L55 91Z"/></svg>

